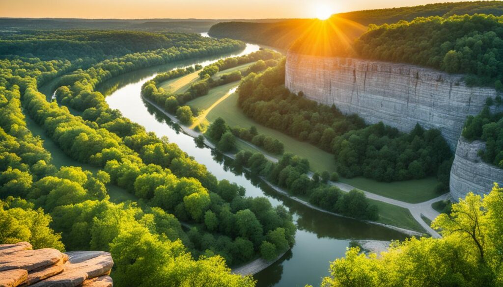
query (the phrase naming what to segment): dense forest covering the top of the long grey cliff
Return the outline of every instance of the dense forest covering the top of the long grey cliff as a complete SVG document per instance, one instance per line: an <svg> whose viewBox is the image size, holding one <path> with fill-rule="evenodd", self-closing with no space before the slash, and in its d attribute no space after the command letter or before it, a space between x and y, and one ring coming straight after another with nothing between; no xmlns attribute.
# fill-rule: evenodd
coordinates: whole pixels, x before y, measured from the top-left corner
<svg viewBox="0 0 503 287"><path fill-rule="evenodd" d="M418 18L372 26L354 45L359 57L467 74L466 82L503 90L501 17Z"/></svg>

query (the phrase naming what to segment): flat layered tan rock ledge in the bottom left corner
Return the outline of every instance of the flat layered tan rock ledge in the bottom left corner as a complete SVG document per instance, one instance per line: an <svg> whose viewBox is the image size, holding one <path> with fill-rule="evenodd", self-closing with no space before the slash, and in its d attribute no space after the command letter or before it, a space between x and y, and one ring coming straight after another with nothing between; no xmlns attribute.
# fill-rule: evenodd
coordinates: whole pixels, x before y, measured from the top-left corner
<svg viewBox="0 0 503 287"><path fill-rule="evenodd" d="M103 251L32 250L28 242L0 245L0 287L111 287L114 261Z"/></svg>

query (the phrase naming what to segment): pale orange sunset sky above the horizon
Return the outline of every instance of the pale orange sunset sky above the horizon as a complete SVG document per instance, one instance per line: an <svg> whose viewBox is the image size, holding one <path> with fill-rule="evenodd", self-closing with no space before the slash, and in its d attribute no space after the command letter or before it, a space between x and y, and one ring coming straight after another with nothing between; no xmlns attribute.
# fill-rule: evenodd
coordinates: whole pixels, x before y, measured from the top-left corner
<svg viewBox="0 0 503 287"><path fill-rule="evenodd" d="M459 2L461 0L449 0ZM0 0L0 17L24 18L314 18L331 13L423 5L447 0Z"/></svg>

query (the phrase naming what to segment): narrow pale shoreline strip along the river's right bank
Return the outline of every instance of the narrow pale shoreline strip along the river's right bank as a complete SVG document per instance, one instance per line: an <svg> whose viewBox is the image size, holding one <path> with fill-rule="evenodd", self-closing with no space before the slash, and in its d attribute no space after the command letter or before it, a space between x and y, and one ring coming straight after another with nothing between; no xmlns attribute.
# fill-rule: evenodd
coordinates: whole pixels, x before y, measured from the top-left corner
<svg viewBox="0 0 503 287"><path fill-rule="evenodd" d="M155 107L159 112L161 112L162 114L164 114L165 116L169 117L174 123L178 124L182 130L183 133L185 133L186 135L190 136L190 137L193 137L193 138L196 138L200 135L203 135L202 133L198 132L198 131L195 131L193 129L190 129L189 127L183 125L180 123L180 121L174 117L173 115L171 115L170 113L166 112L162 107L160 107L159 105L157 105L156 103L154 103L153 101L141 96L141 98L149 103L150 105L152 105L153 107ZM205 138L205 141L204 143L211 149L215 149L216 146L210 142L208 139ZM231 154L231 153L223 153L225 156L231 158L231 159L234 159L235 156L234 154ZM276 159L277 161L277 159ZM268 180L266 180L264 177L261 177L261 179L266 183L268 184L271 188L273 188L276 192L282 194L283 196L286 196L288 197L289 199L292 199L306 207L309 207L313 210L317 210L317 211L320 211L320 212L323 212L323 213L326 213L326 214L330 214L330 215L334 215L334 216L338 216L338 217L343 217L343 218L350 218L350 219L354 219L352 217L348 217L348 216L343 216L341 214L337 214L337 213L333 213L333 212L329 212L329 211L326 211L326 210L323 210L321 208L318 208L302 199L299 199L297 197L293 197L291 196L290 194L288 194L286 192L286 190L283 190L282 188L278 187L278 186L275 186L274 184L272 184L271 182L269 182ZM360 220L360 219L357 219L357 220ZM390 229L393 229L393 230L396 230L398 232L401 232L403 234L406 234L406 235L409 235L409 236L423 236L424 233L421 233L421 232L417 232L417 231L414 231L414 230L410 230L410 229L406 229L406 228L401 228L401 227L397 227L397 226L393 226L393 225L389 225L389 224L384 224L384 223L380 223L380 222L375 222L375 221L369 221L369 220L360 220L362 222L366 222L366 223L369 223L369 224L374 224L374 225L379 225L379 226L383 226L383 227L386 227L386 228L390 228Z"/></svg>

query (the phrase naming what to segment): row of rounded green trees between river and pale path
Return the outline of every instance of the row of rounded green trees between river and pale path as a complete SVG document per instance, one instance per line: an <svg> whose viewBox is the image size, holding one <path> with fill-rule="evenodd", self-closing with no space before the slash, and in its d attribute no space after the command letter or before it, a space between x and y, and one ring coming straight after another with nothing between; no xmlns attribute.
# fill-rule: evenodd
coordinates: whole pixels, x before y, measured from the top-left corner
<svg viewBox="0 0 503 287"><path fill-rule="evenodd" d="M250 130L249 134L253 135L254 129ZM222 150L222 147L233 147L234 133L234 129L227 126L222 118L218 118L205 135L217 142L217 148ZM256 135L253 139L256 137L260 135ZM326 211L365 220L375 221L379 218L378 207L371 204L362 192L355 189L344 193L328 183L328 180L339 180L337 172L332 174L328 171L315 172L310 176L309 166L307 159L291 153L283 154L277 163L267 159L261 152L252 153L244 150L236 153L234 159L235 168L247 168L251 175L263 176L272 184L288 190L293 196L306 198L311 204Z"/></svg>

